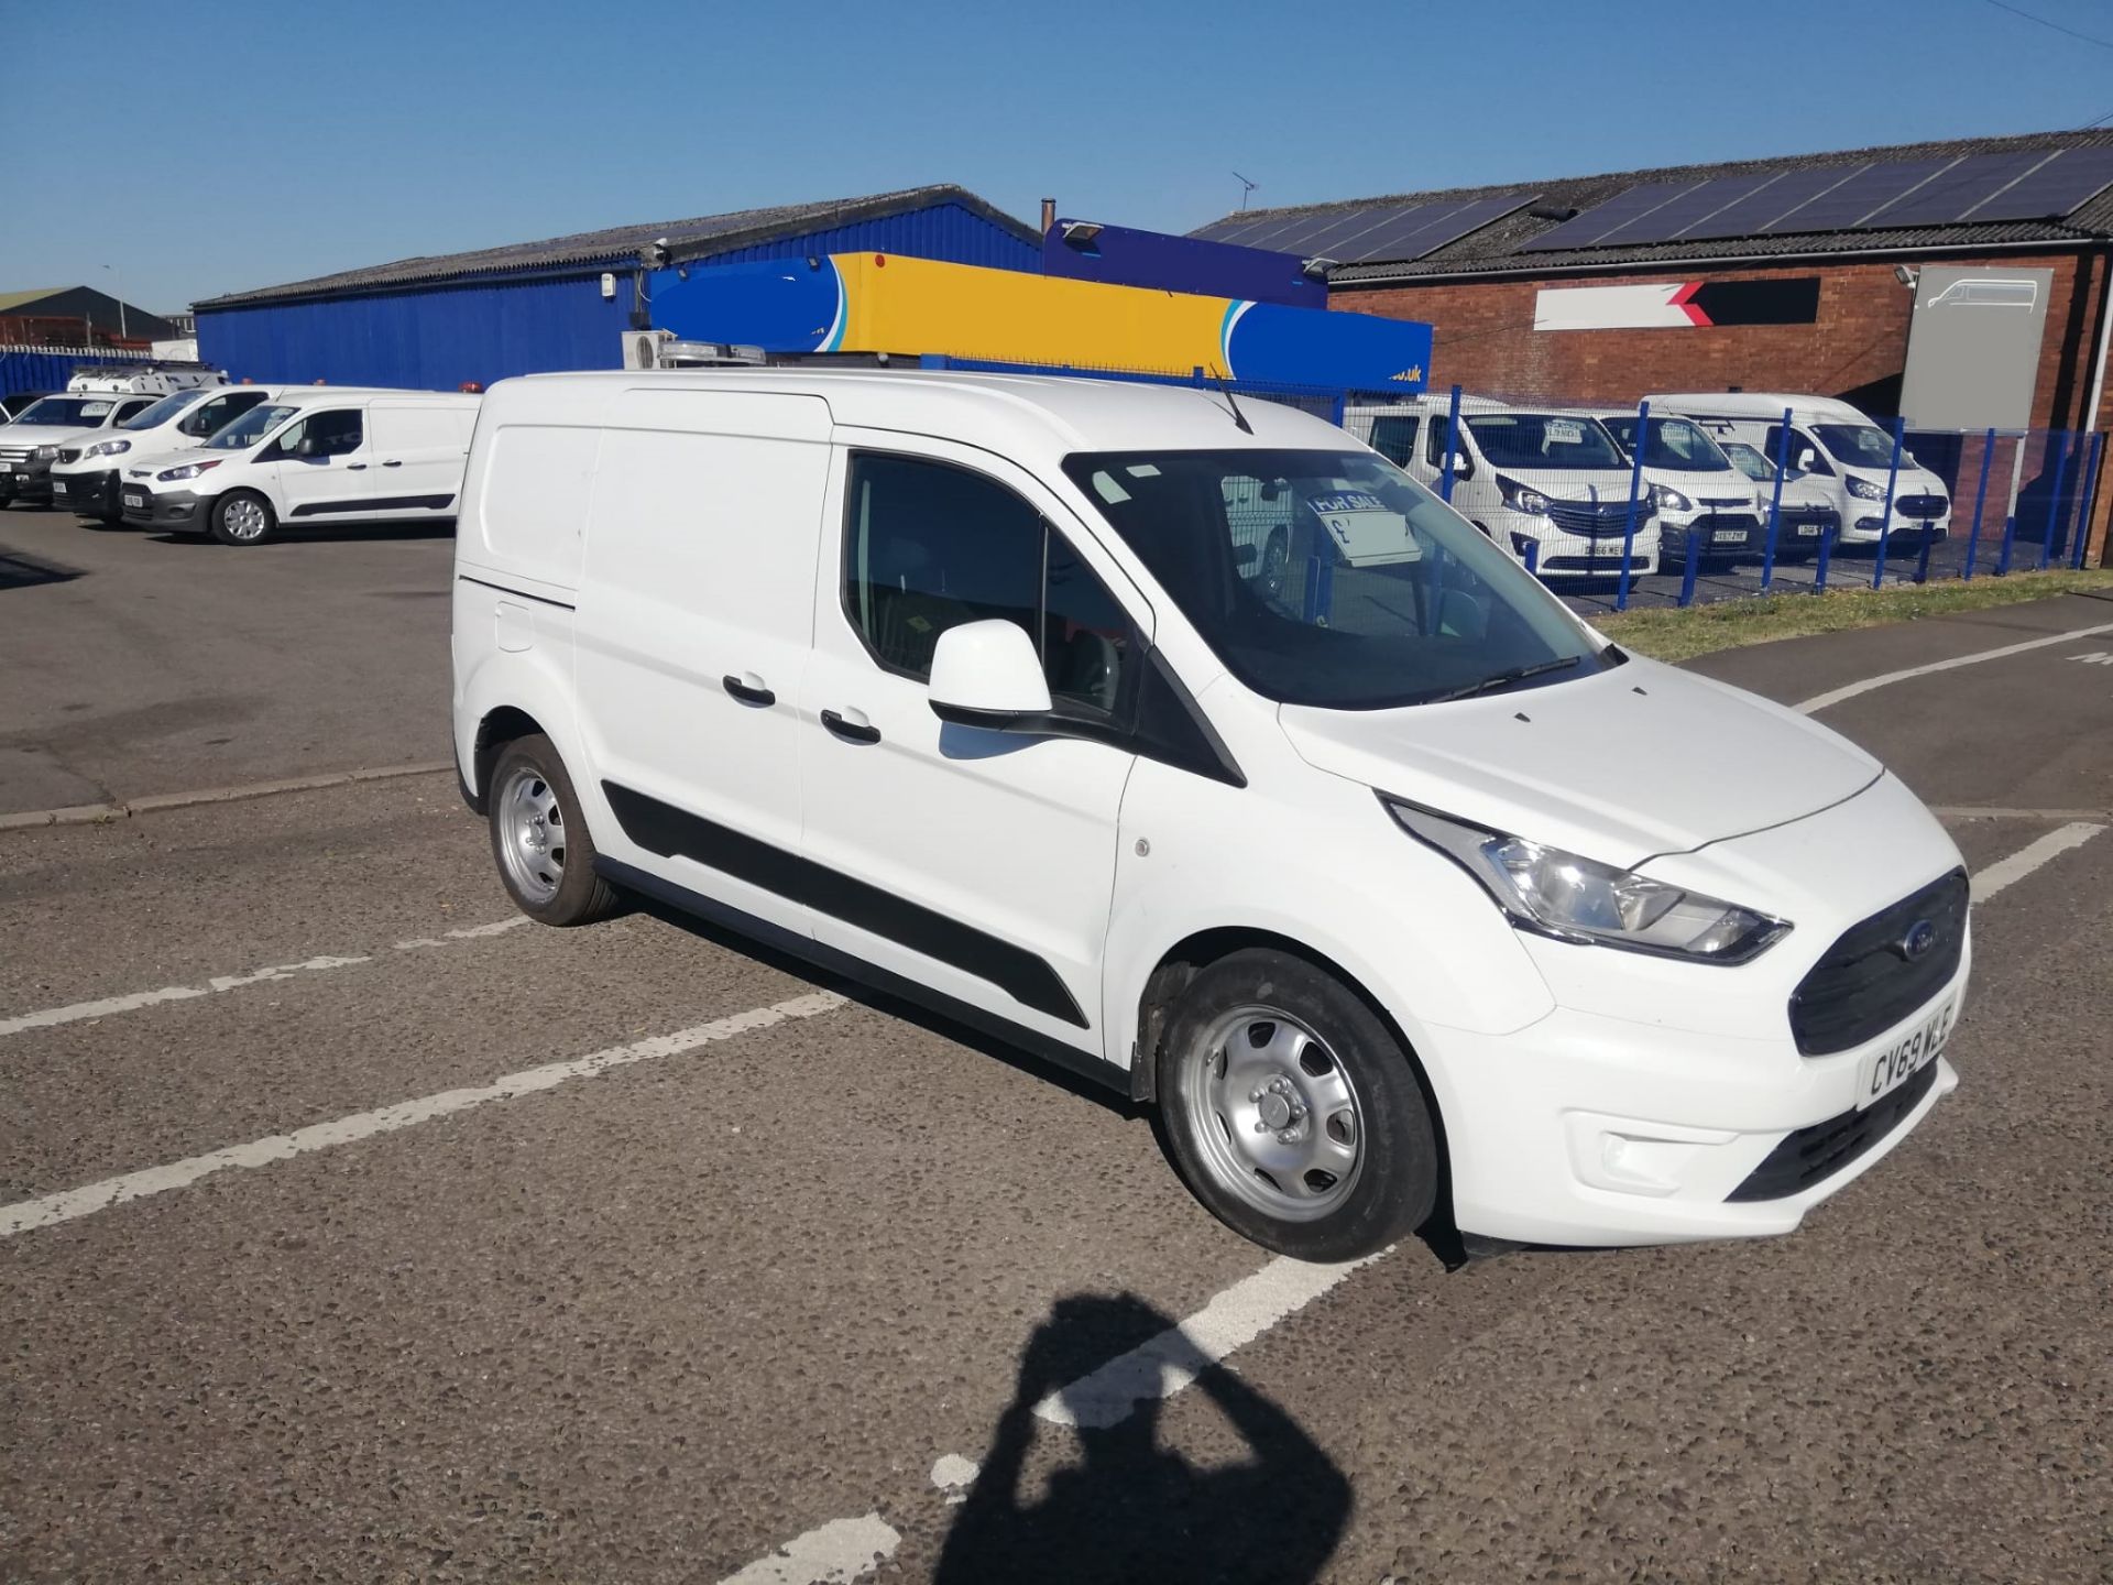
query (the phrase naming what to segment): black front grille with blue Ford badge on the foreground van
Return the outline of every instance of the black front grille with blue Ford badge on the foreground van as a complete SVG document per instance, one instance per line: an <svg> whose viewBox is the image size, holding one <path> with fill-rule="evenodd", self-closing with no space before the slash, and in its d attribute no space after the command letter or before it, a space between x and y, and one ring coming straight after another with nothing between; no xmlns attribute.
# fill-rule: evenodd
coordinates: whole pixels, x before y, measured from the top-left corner
<svg viewBox="0 0 2113 1585"><path fill-rule="evenodd" d="M1929 921L1936 940L1916 959L1906 934ZM1967 945L1967 873L1952 871L1862 924L1828 947L1790 993L1790 1033L1807 1057L1849 1050L1914 1012L1959 972Z"/></svg>

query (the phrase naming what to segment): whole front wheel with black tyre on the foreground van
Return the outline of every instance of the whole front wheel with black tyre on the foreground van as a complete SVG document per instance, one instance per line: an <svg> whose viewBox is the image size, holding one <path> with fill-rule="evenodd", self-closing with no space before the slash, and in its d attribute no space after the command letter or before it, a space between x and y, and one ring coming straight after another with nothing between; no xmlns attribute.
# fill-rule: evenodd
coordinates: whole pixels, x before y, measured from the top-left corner
<svg viewBox="0 0 2113 1585"><path fill-rule="evenodd" d="M1198 972L1166 1021L1158 1095L1190 1192L1264 1249L1357 1260L1437 1205L1437 1129L1407 1052L1302 957L1249 949Z"/></svg>

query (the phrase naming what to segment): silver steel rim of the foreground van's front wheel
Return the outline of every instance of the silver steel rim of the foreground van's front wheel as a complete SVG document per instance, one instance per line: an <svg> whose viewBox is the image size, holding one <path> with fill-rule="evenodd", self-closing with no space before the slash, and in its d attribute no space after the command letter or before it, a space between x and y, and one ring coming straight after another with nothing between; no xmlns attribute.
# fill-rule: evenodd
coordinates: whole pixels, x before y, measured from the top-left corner
<svg viewBox="0 0 2113 1585"><path fill-rule="evenodd" d="M1348 1069L1283 1008L1221 1014L1185 1057L1181 1105L1219 1188L1278 1222L1340 1209L1365 1169Z"/></svg>

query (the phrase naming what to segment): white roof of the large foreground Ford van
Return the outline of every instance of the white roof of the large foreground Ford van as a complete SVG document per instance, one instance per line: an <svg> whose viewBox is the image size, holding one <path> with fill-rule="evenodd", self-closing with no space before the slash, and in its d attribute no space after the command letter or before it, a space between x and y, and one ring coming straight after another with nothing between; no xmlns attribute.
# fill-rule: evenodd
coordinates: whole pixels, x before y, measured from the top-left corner
<svg viewBox="0 0 2113 1585"><path fill-rule="evenodd" d="M484 397L488 423L564 408L606 410L623 391L744 391L814 395L830 418L860 429L945 435L999 454L1012 448L1238 450L1354 446L1342 429L1276 402L1223 391L1056 374L961 374L879 368L625 370L528 374ZM1234 421L1234 404L1247 429Z"/></svg>

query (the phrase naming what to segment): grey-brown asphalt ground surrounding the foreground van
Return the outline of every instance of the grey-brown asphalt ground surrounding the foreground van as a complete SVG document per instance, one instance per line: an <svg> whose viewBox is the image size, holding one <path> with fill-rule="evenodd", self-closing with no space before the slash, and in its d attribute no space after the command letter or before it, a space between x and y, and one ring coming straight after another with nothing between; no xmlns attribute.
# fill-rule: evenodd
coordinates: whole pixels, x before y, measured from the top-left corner
<svg viewBox="0 0 2113 1585"><path fill-rule="evenodd" d="M444 607L374 592L446 541L63 549L0 664L78 590L108 731L34 776L224 765L110 727L207 670L264 776L444 742ZM180 588L228 632L131 674ZM264 674L266 590L418 615ZM1143 1114L737 943L516 924L446 776L0 833L0 1574L2105 1581L2113 602L1699 670L1990 649L1819 712L1980 877L1959 1093L1788 1238L1452 1274L1274 1262Z"/></svg>

